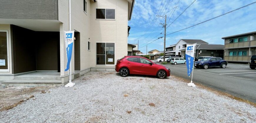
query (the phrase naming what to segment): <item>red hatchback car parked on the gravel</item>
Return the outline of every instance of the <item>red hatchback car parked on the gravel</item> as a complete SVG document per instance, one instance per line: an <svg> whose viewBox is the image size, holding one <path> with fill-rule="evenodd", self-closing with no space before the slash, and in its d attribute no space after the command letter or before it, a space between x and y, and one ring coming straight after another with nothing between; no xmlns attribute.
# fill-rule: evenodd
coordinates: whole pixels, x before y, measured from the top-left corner
<svg viewBox="0 0 256 123"><path fill-rule="evenodd" d="M152 75L161 79L170 76L169 68L139 56L125 56L118 59L115 70L123 77L129 74Z"/></svg>

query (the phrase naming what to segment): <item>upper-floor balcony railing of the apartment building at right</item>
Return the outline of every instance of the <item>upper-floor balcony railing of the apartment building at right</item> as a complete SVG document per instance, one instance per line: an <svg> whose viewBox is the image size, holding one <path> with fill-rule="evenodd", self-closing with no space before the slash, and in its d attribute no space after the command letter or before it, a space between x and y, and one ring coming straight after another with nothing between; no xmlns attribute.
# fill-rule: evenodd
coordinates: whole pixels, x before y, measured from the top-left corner
<svg viewBox="0 0 256 123"><path fill-rule="evenodd" d="M225 44L225 49L244 48L244 47L256 47L256 40Z"/></svg>

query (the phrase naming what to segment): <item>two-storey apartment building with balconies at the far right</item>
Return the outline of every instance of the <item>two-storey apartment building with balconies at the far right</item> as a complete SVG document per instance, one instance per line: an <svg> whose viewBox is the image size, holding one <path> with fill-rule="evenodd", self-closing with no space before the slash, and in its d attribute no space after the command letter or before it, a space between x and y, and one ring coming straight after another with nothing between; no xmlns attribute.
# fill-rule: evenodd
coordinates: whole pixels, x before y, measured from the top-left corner
<svg viewBox="0 0 256 123"><path fill-rule="evenodd" d="M250 62L256 55L256 31L222 37L225 41L224 59L228 62Z"/></svg>

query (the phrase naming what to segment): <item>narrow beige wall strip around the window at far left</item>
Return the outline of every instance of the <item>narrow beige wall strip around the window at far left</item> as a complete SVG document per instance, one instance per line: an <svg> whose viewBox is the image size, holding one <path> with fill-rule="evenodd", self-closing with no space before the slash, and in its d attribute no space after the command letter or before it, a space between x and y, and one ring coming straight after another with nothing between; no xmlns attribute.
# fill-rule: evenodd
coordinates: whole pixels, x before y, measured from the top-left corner
<svg viewBox="0 0 256 123"><path fill-rule="evenodd" d="M0 30L8 31L8 55L9 55L9 71L0 71L0 74L12 74L12 59L11 59L11 28L9 24L0 24Z"/></svg>

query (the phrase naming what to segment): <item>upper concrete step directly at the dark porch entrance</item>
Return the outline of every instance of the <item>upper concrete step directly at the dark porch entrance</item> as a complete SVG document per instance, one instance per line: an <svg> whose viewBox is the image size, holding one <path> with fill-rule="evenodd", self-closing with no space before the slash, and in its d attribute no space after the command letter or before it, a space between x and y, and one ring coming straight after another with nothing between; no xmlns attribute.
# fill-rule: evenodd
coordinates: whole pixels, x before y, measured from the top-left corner
<svg viewBox="0 0 256 123"><path fill-rule="evenodd" d="M14 80L61 80L60 76L14 76Z"/></svg>

